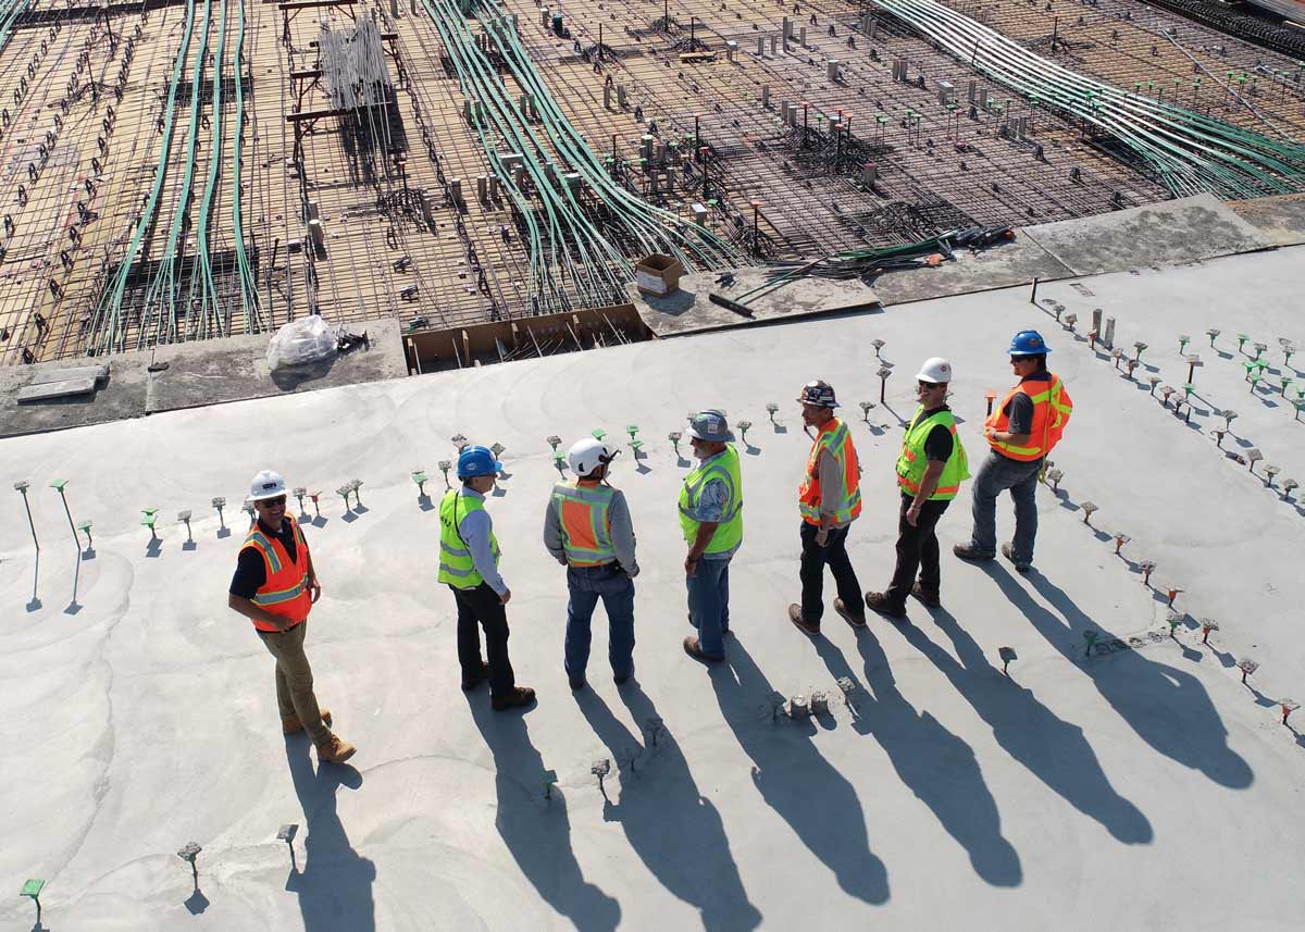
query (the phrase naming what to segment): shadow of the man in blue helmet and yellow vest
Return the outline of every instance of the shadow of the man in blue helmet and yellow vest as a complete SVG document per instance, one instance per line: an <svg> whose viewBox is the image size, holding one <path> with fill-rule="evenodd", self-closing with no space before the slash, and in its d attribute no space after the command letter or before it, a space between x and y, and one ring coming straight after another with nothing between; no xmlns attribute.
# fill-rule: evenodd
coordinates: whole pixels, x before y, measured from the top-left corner
<svg viewBox="0 0 1305 932"><path fill-rule="evenodd" d="M566 799L557 787L543 801L544 760L530 743L519 713L492 711L484 696L468 696L471 717L495 762L499 811L495 828L539 895L579 932L612 932L621 906L585 880L570 843ZM480 700L480 701L476 701Z"/></svg>

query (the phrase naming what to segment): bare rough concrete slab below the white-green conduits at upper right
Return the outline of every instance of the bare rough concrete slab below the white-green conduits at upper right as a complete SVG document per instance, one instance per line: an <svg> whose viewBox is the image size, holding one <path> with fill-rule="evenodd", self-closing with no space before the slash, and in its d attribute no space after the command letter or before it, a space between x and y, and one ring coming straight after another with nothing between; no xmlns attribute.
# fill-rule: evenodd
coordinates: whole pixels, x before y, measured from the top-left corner
<svg viewBox="0 0 1305 932"><path fill-rule="evenodd" d="M1180 265L1272 245L1212 194L1043 223L1023 232L1077 275Z"/></svg>

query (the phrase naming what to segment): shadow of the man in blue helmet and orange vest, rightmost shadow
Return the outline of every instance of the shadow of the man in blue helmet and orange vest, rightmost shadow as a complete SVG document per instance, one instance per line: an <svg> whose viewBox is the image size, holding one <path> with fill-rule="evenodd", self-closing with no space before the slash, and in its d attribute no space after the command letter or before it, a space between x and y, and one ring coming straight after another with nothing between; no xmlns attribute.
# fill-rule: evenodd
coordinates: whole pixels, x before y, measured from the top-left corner
<svg viewBox="0 0 1305 932"><path fill-rule="evenodd" d="M1087 615L1036 570L1028 574L1030 582L1061 617L1037 604L1004 569L984 564L984 570L1037 633L1092 680L1138 738L1220 786L1244 790L1254 782L1250 765L1228 747L1228 730L1195 676L1150 660L1139 650L1121 650L1084 662L1082 632L1096 629L1103 641L1109 641L1117 637L1109 627Z"/></svg>

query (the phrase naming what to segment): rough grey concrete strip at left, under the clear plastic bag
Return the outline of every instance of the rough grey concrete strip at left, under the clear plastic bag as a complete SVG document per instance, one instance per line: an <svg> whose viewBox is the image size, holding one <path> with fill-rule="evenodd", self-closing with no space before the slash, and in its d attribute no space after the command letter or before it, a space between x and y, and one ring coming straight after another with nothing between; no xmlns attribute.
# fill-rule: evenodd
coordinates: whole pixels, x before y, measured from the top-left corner
<svg viewBox="0 0 1305 932"><path fill-rule="evenodd" d="M333 359L271 372L270 334L252 334L192 343L168 343L108 360L108 379L94 392L48 401L23 401L22 390L65 371L67 363L0 367L0 437L103 424L161 411L202 407L407 375L401 322L394 318L351 325L364 329L371 346Z"/></svg>

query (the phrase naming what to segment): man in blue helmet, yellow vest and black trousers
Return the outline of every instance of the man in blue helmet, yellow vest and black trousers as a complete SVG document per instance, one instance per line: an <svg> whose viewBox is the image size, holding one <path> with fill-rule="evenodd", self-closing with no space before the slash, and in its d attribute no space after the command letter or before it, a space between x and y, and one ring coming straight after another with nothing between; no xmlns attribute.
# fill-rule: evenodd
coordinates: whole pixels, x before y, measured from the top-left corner
<svg viewBox="0 0 1305 932"><path fill-rule="evenodd" d="M471 692L489 680L495 711L527 706L535 691L518 687L508 659L508 614L504 606L512 590L499 574L499 540L485 510L485 493L502 473L502 463L484 446L466 446L458 454L458 479L440 501L440 582L449 585L458 604L458 663L462 691ZM485 654L480 659L480 632L485 629Z"/></svg>

